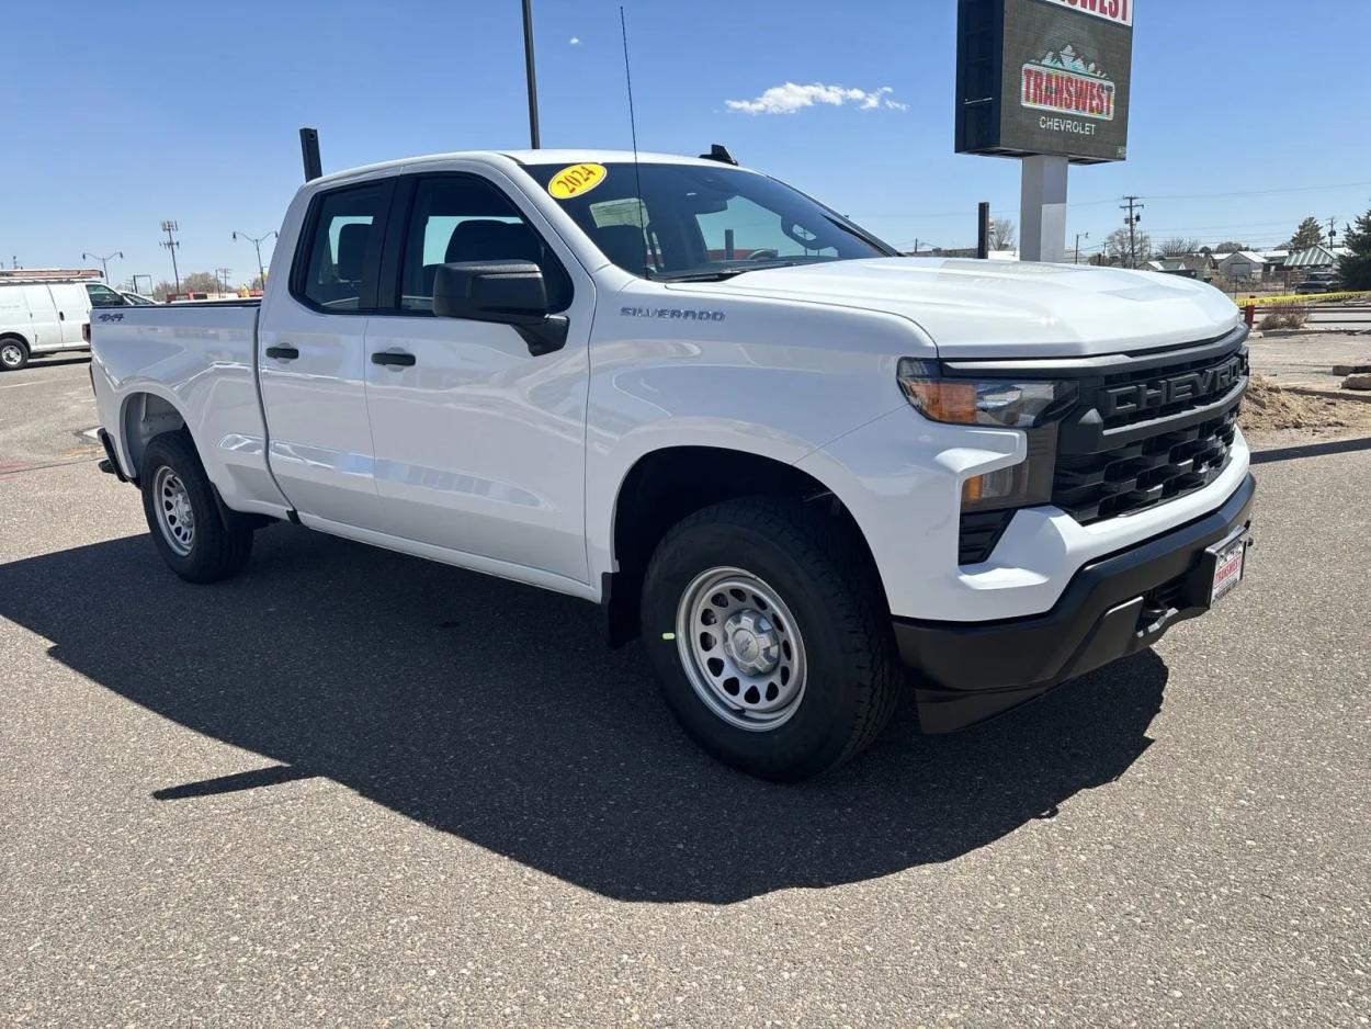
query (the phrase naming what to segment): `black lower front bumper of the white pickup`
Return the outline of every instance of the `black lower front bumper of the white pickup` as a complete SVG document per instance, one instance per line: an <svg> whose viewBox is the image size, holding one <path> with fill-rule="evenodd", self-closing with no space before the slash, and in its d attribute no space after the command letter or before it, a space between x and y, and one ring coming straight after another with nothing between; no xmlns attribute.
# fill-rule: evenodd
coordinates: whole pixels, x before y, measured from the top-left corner
<svg viewBox="0 0 1371 1029"><path fill-rule="evenodd" d="M1217 509L1080 568L1045 615L998 622L895 619L925 733L950 733L1152 646L1209 609L1206 547L1250 524L1248 475Z"/></svg>

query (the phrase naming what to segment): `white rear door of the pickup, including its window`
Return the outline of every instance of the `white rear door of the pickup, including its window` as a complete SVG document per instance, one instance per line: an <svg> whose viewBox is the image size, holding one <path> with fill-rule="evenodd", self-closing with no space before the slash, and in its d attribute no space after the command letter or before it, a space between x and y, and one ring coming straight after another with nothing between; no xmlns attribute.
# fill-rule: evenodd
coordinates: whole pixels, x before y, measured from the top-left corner
<svg viewBox="0 0 1371 1029"><path fill-rule="evenodd" d="M363 347L391 193L389 178L315 193L259 318L270 466L302 520L377 527Z"/></svg>

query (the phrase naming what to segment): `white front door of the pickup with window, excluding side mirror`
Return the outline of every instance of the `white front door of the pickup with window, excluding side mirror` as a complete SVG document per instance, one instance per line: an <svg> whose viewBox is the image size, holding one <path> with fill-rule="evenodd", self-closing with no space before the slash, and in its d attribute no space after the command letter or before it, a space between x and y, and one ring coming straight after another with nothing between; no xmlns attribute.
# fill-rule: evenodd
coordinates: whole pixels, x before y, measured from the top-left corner
<svg viewBox="0 0 1371 1029"><path fill-rule="evenodd" d="M588 580L585 402L594 285L518 193L480 174L402 180L366 327L366 401L384 530L457 564ZM436 317L447 262L537 263L565 346L535 355L510 325ZM387 288L389 288L385 302ZM551 576L551 579L548 579Z"/></svg>

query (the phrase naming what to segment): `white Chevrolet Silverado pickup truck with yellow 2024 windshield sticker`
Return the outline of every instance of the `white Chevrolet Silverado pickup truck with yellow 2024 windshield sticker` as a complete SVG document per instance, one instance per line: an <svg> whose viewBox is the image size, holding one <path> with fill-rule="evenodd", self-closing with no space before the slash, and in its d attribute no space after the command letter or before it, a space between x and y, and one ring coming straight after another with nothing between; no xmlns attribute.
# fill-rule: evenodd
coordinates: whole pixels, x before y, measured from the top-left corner
<svg viewBox="0 0 1371 1029"><path fill-rule="evenodd" d="M167 564L232 575L282 520L600 604L757 775L906 685L925 731L982 722L1242 576L1208 285L902 258L727 154L551 150L311 181L267 281L95 316L103 464Z"/></svg>

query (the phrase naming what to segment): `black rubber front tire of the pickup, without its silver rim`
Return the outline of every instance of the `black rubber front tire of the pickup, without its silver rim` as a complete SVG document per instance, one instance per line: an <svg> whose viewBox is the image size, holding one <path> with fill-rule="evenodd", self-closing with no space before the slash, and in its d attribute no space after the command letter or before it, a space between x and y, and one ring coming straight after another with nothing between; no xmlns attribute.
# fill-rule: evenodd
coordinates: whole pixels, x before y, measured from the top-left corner
<svg viewBox="0 0 1371 1029"><path fill-rule="evenodd" d="M834 519L784 498L727 501L672 528L643 583L643 639L666 702L686 731L725 764L786 782L818 775L865 749L890 722L905 682L869 564ZM803 689L787 720L775 727L731 723L728 713L718 713L727 697L717 690L712 694L688 671L690 645L680 638L681 627L694 624L690 597L702 595L696 589L702 582L709 593L710 580L703 576L710 569L742 569L755 578L788 608L798 630ZM747 617L746 609L740 616ZM746 720L746 712L733 718Z"/></svg>

